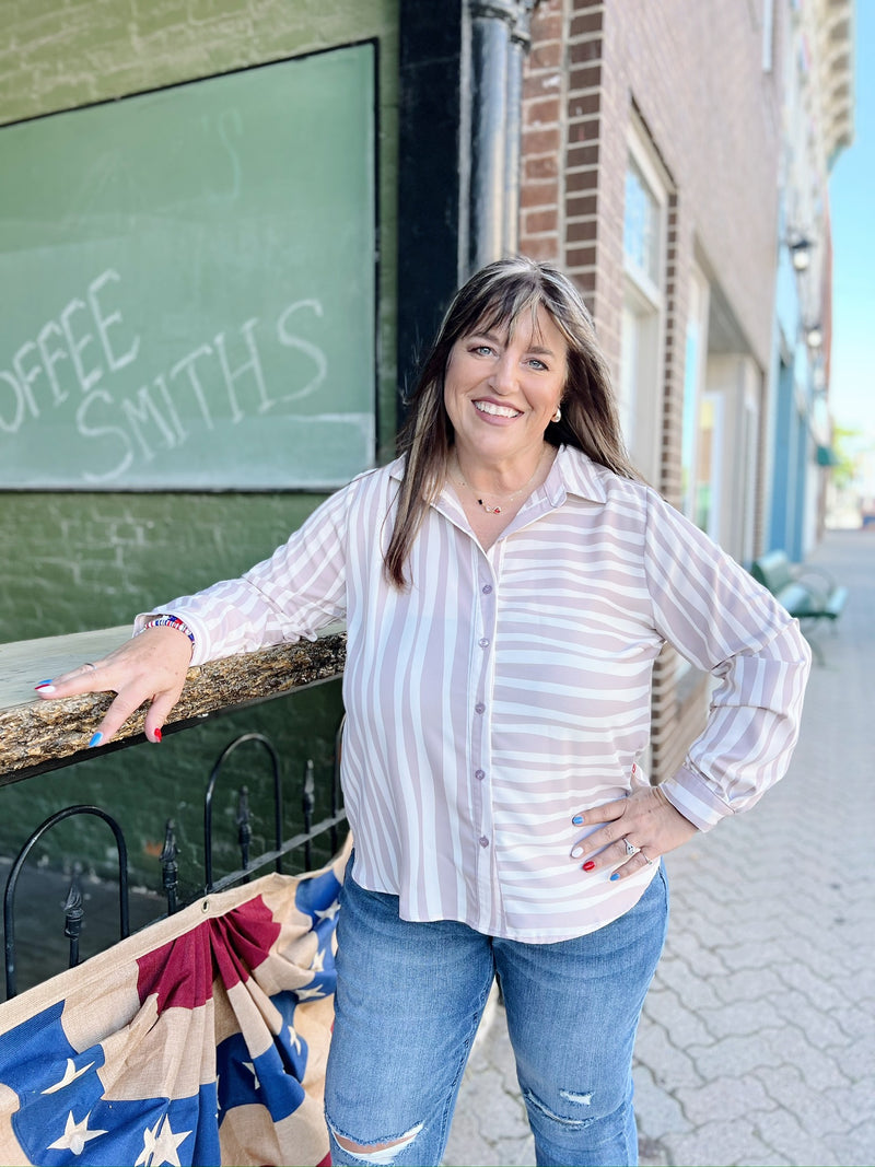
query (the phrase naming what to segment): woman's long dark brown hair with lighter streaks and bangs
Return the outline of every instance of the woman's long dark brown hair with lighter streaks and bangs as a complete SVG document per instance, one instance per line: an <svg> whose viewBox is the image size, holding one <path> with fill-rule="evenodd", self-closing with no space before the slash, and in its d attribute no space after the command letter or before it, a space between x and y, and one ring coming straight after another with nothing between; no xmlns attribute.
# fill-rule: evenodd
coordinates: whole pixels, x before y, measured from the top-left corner
<svg viewBox="0 0 875 1167"><path fill-rule="evenodd" d="M499 328L513 329L524 312L550 313L568 345L562 418L551 421L544 438L553 446L574 446L594 462L624 478L637 478L620 432L608 366L593 320L580 293L558 268L517 256L488 264L460 288L426 356L410 398L407 420L398 438L406 464L398 495L385 571L405 588L405 565L430 503L440 494L454 432L443 404L443 378L460 337Z"/></svg>

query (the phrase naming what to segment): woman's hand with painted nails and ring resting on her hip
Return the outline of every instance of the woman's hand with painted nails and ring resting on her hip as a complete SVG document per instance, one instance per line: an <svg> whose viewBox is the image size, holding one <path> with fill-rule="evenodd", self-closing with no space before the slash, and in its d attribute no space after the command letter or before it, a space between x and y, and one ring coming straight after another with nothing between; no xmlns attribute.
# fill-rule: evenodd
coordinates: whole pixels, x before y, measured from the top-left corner
<svg viewBox="0 0 875 1167"><path fill-rule="evenodd" d="M586 872L615 867L611 879L634 875L648 866L648 860L653 862L674 851L699 831L672 806L659 787L636 790L626 798L574 816L575 826L592 827L600 823L604 826L574 846L572 859L580 859ZM630 853L626 844L637 848L635 853Z"/></svg>

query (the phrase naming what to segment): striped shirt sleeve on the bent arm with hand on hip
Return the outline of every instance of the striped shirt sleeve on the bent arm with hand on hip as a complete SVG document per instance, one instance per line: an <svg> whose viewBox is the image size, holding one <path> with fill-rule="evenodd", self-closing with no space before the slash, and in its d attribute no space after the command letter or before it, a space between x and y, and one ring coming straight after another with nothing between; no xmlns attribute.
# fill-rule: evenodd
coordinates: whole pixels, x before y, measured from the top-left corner
<svg viewBox="0 0 875 1167"><path fill-rule="evenodd" d="M718 680L705 731L662 784L682 815L708 830L748 810L785 774L811 650L798 621L658 496L645 554L659 631Z"/></svg>

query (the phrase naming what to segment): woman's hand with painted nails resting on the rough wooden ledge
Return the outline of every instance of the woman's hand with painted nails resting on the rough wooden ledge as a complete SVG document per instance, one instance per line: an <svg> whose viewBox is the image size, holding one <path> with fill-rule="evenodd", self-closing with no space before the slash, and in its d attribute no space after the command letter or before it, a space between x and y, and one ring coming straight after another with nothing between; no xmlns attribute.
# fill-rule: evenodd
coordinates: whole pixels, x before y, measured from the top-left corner
<svg viewBox="0 0 875 1167"><path fill-rule="evenodd" d="M180 699L191 661L191 641L175 628L147 628L108 656L37 685L46 700L80 693L116 693L89 746L104 746L145 703L146 736L161 741L161 727Z"/></svg>

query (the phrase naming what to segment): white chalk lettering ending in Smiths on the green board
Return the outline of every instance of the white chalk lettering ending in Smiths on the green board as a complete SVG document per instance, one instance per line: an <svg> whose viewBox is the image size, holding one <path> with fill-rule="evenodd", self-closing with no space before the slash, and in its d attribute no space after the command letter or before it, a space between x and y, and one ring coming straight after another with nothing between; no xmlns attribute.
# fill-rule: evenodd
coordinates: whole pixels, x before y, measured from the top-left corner
<svg viewBox="0 0 875 1167"><path fill-rule="evenodd" d="M120 281L114 268L100 272L0 369L0 433L15 434L78 398L72 417L76 435L89 443L82 460L89 483L114 482L134 463L180 449L196 431L212 431L219 421L237 426L247 417L282 412L326 379L324 351L302 335L308 320L323 316L315 299L285 305L274 322L250 316L195 344L169 368L139 377L147 355L113 301ZM266 345L299 355L281 387L267 384ZM123 370L128 371L119 379Z"/></svg>

